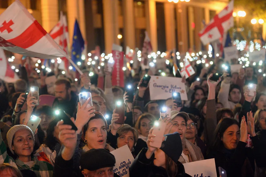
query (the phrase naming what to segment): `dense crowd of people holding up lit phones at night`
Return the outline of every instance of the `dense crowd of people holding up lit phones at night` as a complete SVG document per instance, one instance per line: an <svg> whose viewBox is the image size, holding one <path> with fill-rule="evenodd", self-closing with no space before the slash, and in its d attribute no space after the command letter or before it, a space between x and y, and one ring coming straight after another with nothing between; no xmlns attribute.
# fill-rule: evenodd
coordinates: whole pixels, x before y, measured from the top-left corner
<svg viewBox="0 0 266 177"><path fill-rule="evenodd" d="M142 77L151 72L141 68L134 75L125 71L125 86L135 88L130 101L125 88L112 85L107 66L93 71L93 76L91 70L81 68L78 81L71 71L61 74L54 68L38 75L21 66L16 82L0 81L0 176L119 176L110 152L124 145L135 158L129 167L133 177L190 176L184 163L212 158L217 176L219 167L228 177L266 176L266 83L262 75L251 66L229 74L222 69L222 59L215 59L209 68L191 64L196 74L182 79L188 96L182 106L173 98L150 100L149 85L141 84ZM218 81L210 79L221 72ZM48 94L45 79L53 75L57 80L53 93ZM175 77L170 72L167 76ZM251 83L257 85L252 94ZM39 87L38 106L30 86ZM91 99L81 105L78 95L82 92L90 92ZM126 105L124 124L116 123L118 100ZM93 106L87 106L89 102ZM171 109L171 115L162 120L167 138L162 139L161 148L155 148L151 146L154 121L164 106ZM69 116L75 130L56 115L59 109ZM41 119L35 132L27 126L32 115Z"/></svg>

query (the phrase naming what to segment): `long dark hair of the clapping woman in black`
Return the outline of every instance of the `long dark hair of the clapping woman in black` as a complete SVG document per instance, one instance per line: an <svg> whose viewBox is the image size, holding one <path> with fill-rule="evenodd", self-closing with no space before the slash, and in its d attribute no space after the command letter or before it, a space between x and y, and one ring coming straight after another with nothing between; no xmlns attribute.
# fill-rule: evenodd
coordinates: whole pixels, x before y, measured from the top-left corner
<svg viewBox="0 0 266 177"><path fill-rule="evenodd" d="M212 144L212 147L210 148L210 151L219 151L221 150L221 148L223 148L223 141L221 140L223 133L228 127L234 124L239 127L239 123L235 119L223 118L220 120L214 132L214 142Z"/></svg>

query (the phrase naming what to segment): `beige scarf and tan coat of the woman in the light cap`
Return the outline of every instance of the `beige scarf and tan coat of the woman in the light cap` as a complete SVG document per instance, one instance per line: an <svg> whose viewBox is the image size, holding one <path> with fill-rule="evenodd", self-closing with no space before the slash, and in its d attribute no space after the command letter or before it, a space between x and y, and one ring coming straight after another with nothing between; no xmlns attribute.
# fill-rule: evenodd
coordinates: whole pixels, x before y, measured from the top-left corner
<svg viewBox="0 0 266 177"><path fill-rule="evenodd" d="M183 148L183 153L189 156L189 162L204 160L200 148L192 144L186 138L182 139L182 148ZM186 163L182 155L179 157L178 161L181 162L182 164Z"/></svg>

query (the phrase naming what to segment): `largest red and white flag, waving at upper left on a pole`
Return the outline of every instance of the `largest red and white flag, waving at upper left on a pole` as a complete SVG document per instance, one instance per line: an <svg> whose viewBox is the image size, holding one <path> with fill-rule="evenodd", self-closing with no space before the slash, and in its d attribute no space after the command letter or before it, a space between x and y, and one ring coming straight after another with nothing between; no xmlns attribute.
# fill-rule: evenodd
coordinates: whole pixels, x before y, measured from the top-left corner
<svg viewBox="0 0 266 177"><path fill-rule="evenodd" d="M0 47L42 59L67 56L19 0L0 15Z"/></svg>

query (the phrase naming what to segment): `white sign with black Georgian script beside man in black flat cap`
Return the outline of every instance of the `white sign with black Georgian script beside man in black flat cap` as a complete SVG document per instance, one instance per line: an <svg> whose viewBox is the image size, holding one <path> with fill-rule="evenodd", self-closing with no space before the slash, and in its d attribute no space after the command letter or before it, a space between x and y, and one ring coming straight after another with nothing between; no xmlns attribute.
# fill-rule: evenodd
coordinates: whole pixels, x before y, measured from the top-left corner
<svg viewBox="0 0 266 177"><path fill-rule="evenodd" d="M122 146L111 152L115 157L114 173L118 176L129 177L129 166L134 161L128 145Z"/></svg>

